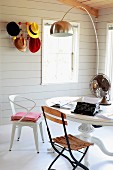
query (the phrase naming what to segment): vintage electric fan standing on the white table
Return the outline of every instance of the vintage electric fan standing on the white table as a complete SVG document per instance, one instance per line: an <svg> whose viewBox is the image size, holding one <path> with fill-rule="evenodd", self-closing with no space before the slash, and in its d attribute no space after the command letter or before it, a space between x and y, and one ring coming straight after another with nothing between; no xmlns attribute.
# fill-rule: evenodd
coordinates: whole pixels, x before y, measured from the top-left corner
<svg viewBox="0 0 113 170"><path fill-rule="evenodd" d="M96 96L102 98L101 105L110 105L111 103L107 100L111 83L109 78L105 74L97 74L90 81L90 90Z"/></svg>

